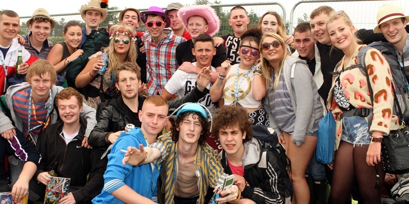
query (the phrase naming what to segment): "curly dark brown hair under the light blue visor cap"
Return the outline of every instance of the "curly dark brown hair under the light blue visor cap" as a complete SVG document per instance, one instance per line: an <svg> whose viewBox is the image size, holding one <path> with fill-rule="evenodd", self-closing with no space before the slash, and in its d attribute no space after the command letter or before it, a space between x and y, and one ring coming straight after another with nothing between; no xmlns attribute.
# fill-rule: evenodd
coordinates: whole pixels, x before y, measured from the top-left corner
<svg viewBox="0 0 409 204"><path fill-rule="evenodd" d="M195 111L186 111L183 113L180 113L179 116L177 116L176 119L171 119L172 126L170 127L170 132L172 133L172 141L177 142L179 140L179 131L176 130L177 127L183 122L184 119L188 118L189 115L193 114L193 116L197 115L199 117L199 122L202 126L202 130L200 133L199 137L199 145L205 145L206 140L208 139L209 132L210 132L210 122L207 121L207 119L200 114L198 114ZM193 119L196 119L193 117Z"/></svg>

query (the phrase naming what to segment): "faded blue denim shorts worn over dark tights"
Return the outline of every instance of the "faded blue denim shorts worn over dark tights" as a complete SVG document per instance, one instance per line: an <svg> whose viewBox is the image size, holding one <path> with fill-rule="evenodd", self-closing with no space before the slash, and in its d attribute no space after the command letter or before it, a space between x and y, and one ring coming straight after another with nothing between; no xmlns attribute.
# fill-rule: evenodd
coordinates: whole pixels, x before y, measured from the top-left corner
<svg viewBox="0 0 409 204"><path fill-rule="evenodd" d="M342 141L355 145L369 145L368 122L363 117L351 116L343 118Z"/></svg>

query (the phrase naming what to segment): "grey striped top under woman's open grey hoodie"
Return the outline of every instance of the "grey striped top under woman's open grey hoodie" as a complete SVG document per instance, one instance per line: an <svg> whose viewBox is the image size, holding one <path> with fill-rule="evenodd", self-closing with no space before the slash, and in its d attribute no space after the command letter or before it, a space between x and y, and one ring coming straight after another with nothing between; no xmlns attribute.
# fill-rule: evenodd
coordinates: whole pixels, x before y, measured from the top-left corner
<svg viewBox="0 0 409 204"><path fill-rule="evenodd" d="M277 78L277 73L271 79ZM288 88L284 82L284 73L280 74L279 83L276 90L272 88L274 80L271 81L268 90L268 101L272 111L272 116L276 120L277 126L281 131L290 135L294 132L294 124L296 123L296 114L292 110L291 97Z"/></svg>

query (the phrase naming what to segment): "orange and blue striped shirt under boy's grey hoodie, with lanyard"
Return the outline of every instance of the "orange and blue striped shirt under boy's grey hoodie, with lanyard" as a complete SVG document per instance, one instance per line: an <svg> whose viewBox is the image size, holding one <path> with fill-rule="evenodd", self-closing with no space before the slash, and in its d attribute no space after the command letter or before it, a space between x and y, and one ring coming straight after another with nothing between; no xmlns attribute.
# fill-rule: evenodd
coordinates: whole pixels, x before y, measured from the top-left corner
<svg viewBox="0 0 409 204"><path fill-rule="evenodd" d="M13 102L13 109L14 112L18 117L21 118L22 124L24 126L24 130L22 131L24 135L28 135L28 123L29 123L29 97L30 97L30 91L31 88L28 89L22 89L17 91L11 98ZM31 108L31 120L30 120L30 129L33 127L41 124L46 120L47 117L47 108L46 108L46 103L47 100L44 101L43 103L37 104L32 101L32 103L35 105L35 110L36 110L36 117L33 114L33 109ZM36 119L37 118L37 119ZM40 122L38 122L40 121ZM37 138L38 133L40 133L41 126L37 127L37 129L32 130L30 133Z"/></svg>

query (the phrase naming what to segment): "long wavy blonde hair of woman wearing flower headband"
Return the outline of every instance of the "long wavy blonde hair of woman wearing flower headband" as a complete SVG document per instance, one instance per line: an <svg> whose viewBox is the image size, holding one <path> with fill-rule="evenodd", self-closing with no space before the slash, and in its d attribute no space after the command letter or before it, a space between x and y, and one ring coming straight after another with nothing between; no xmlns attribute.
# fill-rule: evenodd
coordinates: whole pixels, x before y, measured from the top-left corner
<svg viewBox="0 0 409 204"><path fill-rule="evenodd" d="M113 31L122 31L125 30L128 33L132 33L132 31L129 28L123 27L121 25L115 25L115 27L111 28L111 32ZM121 32L122 33L122 32ZM112 39L109 42L109 46L105 47L103 50L105 53L107 53L109 55L109 59L108 59L108 70L109 71L113 71L115 72L117 70L117 68L119 66L121 66L121 63L119 62L118 59L118 55L117 52L115 52L115 48L114 48L114 42L113 39L115 37L112 37ZM131 36L129 36L129 38L132 38ZM135 46L134 40L130 39L129 40L130 46L129 46L129 50L128 50L128 55L125 58L125 62L132 62L135 63L137 61L137 48Z"/></svg>

